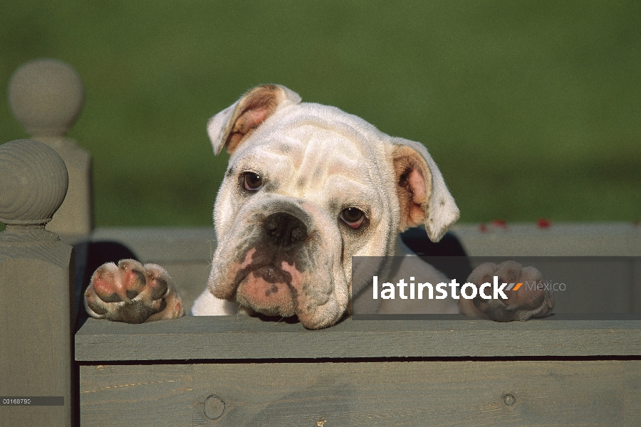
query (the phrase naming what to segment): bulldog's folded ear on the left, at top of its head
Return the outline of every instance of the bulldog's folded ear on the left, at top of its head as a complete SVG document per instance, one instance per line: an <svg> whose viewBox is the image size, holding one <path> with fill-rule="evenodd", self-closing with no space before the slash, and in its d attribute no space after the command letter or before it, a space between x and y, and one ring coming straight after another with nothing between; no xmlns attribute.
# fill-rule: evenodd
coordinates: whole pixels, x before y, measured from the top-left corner
<svg viewBox="0 0 641 427"><path fill-rule="evenodd" d="M299 102L298 93L281 85L262 85L249 90L234 105L207 122L207 135L212 140L214 154L219 154L223 147L229 154L233 153L276 110Z"/></svg>

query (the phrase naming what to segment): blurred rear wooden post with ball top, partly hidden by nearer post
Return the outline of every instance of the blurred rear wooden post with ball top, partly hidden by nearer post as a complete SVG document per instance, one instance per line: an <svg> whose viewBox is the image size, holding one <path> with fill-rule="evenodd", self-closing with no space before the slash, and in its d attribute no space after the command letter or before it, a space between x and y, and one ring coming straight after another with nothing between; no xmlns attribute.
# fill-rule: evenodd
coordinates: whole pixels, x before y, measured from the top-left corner
<svg viewBox="0 0 641 427"><path fill-rule="evenodd" d="M38 59L22 65L9 82L9 105L31 139L64 160L67 197L48 228L66 241L83 240L93 228L91 156L65 135L83 107L83 83L71 65Z"/></svg>

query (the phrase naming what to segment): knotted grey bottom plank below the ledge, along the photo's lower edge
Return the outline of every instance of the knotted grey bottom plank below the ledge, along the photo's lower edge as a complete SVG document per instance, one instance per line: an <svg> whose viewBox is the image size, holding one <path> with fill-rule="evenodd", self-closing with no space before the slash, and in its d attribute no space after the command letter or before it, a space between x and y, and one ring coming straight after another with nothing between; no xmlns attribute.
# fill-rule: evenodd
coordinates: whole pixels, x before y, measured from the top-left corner
<svg viewBox="0 0 641 427"><path fill-rule="evenodd" d="M605 360L84 366L81 423L638 426L640 371ZM216 420L212 395L224 401Z"/></svg>

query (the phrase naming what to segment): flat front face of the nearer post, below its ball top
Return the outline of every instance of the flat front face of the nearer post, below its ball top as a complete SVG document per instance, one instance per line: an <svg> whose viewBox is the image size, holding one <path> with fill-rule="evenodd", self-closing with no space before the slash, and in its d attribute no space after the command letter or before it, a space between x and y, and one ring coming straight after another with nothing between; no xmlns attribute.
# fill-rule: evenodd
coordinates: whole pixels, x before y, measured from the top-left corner
<svg viewBox="0 0 641 427"><path fill-rule="evenodd" d="M66 257L66 268L33 258L0 261L0 396L63 396L64 406L0 407L0 426L70 426L73 419L73 248L52 246L51 258Z"/></svg>

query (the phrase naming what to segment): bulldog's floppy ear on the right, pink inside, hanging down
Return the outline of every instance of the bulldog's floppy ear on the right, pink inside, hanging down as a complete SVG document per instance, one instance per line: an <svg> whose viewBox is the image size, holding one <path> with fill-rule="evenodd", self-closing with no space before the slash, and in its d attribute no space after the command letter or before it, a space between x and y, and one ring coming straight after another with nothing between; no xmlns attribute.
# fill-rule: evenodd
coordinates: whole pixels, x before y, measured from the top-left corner
<svg viewBox="0 0 641 427"><path fill-rule="evenodd" d="M400 231L424 223L429 240L437 242L459 218L459 208L422 144L402 138L392 143Z"/></svg>

